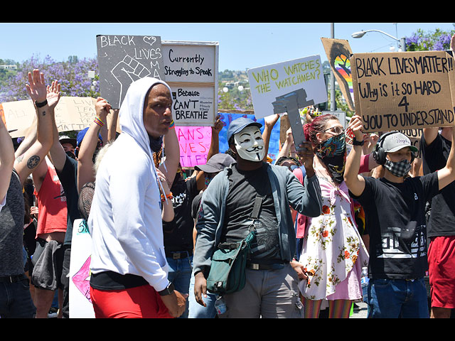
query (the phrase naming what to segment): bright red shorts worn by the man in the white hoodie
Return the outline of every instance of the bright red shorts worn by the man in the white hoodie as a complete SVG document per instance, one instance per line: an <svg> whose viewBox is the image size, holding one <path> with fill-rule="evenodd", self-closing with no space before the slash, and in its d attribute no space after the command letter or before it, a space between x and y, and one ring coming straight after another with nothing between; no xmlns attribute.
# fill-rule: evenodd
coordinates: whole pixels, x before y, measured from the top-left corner
<svg viewBox="0 0 455 341"><path fill-rule="evenodd" d="M90 286L95 318L172 318L152 286L97 290Z"/></svg>

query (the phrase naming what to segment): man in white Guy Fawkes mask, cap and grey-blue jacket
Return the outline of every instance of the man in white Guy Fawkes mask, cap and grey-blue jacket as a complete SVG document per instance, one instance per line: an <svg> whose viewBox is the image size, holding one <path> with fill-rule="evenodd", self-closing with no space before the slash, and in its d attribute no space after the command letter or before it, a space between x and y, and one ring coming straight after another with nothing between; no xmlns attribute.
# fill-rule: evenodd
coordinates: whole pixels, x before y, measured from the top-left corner
<svg viewBox="0 0 455 341"><path fill-rule="evenodd" d="M311 217L321 213L321 190L312 166L314 153L311 148L299 152L308 175L304 187L287 168L264 162L266 151L261 126L243 117L230 123L227 137L237 162L215 176L204 192L193 259L196 301L204 305L206 278L215 246L220 242L237 243L246 237L259 195L262 205L255 224L245 288L223 296L226 316L301 317L297 277L302 271L293 260L296 236L289 205ZM263 277L268 278L267 283L263 283ZM265 287L267 293L262 292Z"/></svg>

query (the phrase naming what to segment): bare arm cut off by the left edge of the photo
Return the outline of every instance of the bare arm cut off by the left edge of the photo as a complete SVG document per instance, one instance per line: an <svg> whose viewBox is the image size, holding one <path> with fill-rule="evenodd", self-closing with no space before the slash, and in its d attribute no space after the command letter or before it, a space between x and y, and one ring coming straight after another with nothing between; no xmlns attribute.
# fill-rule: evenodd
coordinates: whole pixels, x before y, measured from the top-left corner
<svg viewBox="0 0 455 341"><path fill-rule="evenodd" d="M11 171L14 165L14 146L3 120L0 119L0 202L9 188Z"/></svg>

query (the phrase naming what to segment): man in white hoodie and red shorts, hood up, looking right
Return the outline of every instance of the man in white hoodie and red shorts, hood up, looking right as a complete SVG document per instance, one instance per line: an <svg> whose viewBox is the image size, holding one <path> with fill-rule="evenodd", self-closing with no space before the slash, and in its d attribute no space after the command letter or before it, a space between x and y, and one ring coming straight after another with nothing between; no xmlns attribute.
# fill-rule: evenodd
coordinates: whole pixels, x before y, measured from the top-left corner
<svg viewBox="0 0 455 341"><path fill-rule="evenodd" d="M90 297L97 318L178 317L186 297L168 281L161 184L153 152L172 121L171 88L145 77L130 85L119 111L122 134L97 171L88 220Z"/></svg>

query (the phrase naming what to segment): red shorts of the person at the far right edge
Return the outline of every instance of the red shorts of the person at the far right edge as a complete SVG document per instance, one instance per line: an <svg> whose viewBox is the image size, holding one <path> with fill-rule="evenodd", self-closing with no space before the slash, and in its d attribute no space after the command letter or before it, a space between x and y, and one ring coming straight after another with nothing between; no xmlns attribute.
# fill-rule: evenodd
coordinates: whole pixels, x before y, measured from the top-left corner
<svg viewBox="0 0 455 341"><path fill-rule="evenodd" d="M455 236L432 237L428 266L432 307L455 308Z"/></svg>

